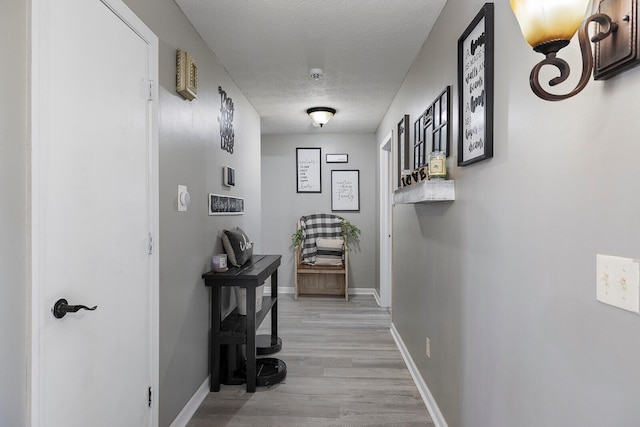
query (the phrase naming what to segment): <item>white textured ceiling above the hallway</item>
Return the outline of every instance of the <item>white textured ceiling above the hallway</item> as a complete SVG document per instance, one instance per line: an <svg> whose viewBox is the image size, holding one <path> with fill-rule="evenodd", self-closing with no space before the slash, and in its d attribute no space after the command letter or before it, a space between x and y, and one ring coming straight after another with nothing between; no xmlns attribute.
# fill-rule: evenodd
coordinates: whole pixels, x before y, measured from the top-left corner
<svg viewBox="0 0 640 427"><path fill-rule="evenodd" d="M176 0L262 133L372 133L446 0ZM324 77L313 80L311 68ZM321 130L306 110L337 110Z"/></svg>

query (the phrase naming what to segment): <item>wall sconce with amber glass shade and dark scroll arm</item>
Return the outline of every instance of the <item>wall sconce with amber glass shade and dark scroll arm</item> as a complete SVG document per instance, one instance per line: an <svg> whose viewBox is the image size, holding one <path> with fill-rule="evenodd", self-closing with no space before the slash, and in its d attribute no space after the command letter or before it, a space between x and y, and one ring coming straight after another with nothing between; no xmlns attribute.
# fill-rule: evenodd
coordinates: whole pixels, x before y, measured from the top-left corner
<svg viewBox="0 0 640 427"><path fill-rule="evenodd" d="M584 19L587 11L591 11L592 1L599 3L598 13ZM607 80L640 64L636 25L638 0L510 0L510 3L524 38L533 50L545 55L529 77L531 89L544 100L561 101L579 93L589 83L592 72L595 80ZM596 23L597 32L589 40L592 22ZM578 27L582 51L580 80L567 94L549 93L540 85L540 69L553 65L560 72L549 80L549 86L569 77L569 64L556 54L569 44ZM591 42L595 44L595 53L592 53Z"/></svg>

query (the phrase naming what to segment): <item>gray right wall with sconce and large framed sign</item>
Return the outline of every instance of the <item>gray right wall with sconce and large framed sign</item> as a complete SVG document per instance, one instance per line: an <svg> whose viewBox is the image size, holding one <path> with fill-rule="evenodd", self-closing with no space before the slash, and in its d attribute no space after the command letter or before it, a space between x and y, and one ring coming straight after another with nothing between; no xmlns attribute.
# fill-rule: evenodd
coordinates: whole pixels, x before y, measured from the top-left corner
<svg viewBox="0 0 640 427"><path fill-rule="evenodd" d="M446 85L457 100L457 39L482 4L448 1L378 141ZM596 301L595 262L640 258L640 69L542 101L541 55L508 2L495 12L495 155L461 168L454 148L456 201L394 208L393 322L450 426L638 425L640 317ZM578 73L576 49L561 56ZM453 125L455 145L455 107Z"/></svg>

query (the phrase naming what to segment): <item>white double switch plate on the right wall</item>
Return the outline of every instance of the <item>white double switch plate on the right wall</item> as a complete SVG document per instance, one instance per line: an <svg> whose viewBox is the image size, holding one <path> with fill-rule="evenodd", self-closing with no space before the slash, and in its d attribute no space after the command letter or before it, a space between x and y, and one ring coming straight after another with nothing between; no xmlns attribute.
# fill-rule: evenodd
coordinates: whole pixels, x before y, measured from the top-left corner
<svg viewBox="0 0 640 427"><path fill-rule="evenodd" d="M637 259L596 256L596 299L640 313L640 263Z"/></svg>

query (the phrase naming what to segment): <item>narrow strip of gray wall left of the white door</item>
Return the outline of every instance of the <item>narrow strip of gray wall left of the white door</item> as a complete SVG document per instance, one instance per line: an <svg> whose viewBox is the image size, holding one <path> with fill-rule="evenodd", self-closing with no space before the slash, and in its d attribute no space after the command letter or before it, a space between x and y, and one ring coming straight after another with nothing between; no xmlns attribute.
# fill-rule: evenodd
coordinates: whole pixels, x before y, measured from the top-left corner
<svg viewBox="0 0 640 427"><path fill-rule="evenodd" d="M2 3L0 13L0 424L27 424L27 9Z"/></svg>

